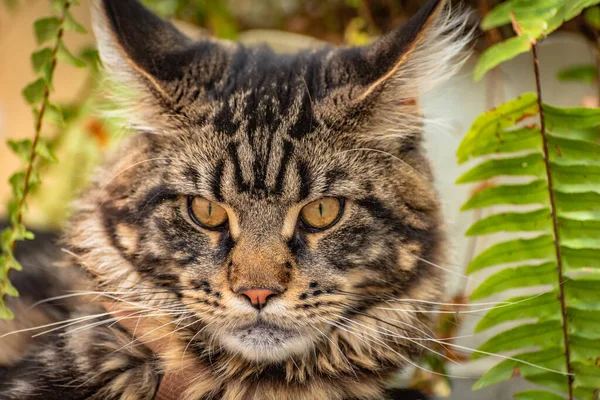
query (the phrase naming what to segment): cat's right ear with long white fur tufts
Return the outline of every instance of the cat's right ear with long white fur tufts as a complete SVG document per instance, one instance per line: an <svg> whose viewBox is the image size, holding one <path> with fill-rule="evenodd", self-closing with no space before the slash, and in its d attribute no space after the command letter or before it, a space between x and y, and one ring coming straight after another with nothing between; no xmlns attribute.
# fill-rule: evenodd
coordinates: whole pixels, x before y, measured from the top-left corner
<svg viewBox="0 0 600 400"><path fill-rule="evenodd" d="M347 80L340 85L350 88L346 106L369 113L383 135L420 131L419 96L456 73L468 57L463 51L471 40L467 19L467 14L452 11L448 1L430 0L370 45L338 50L330 68L342 71L337 75Z"/></svg>

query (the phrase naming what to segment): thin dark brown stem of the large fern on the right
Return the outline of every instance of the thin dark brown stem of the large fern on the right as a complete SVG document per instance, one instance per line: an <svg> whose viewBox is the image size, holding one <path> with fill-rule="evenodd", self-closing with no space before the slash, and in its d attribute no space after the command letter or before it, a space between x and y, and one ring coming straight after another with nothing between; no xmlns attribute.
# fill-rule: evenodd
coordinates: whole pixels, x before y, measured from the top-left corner
<svg viewBox="0 0 600 400"><path fill-rule="evenodd" d="M560 311L562 315L563 340L565 344L565 361L567 364L567 380L569 387L569 400L573 400L573 374L571 371L571 350L569 346L569 332L567 328L567 308L565 305L565 279L563 275L562 256L560 251L560 234L558 230L558 218L556 217L556 199L554 198L554 188L552 184L552 172L550 170L550 158L548 151L548 139L546 137L546 123L544 119L544 107L542 102L542 85L540 83L540 63L537 56L537 43L532 43L533 53L533 71L535 73L535 86L537 90L537 101L540 109L540 132L542 135L542 144L544 150L544 165L546 167L546 179L548 180L548 191L550 192L550 212L552 215L552 228L554 231L554 249L556 252L556 265L558 271L558 300L560 301Z"/></svg>

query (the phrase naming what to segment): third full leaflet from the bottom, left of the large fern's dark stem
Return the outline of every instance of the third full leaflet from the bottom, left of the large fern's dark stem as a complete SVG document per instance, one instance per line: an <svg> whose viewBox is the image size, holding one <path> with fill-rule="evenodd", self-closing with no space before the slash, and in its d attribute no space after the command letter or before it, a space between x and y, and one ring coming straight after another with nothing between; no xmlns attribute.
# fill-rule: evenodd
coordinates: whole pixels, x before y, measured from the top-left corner
<svg viewBox="0 0 600 400"><path fill-rule="evenodd" d="M553 271L553 280L558 278ZM541 283L540 283L541 284ZM475 332L483 332L504 322L536 318L538 321L561 320L560 304L556 301L556 291L541 295L513 297L490 311L479 321Z"/></svg>

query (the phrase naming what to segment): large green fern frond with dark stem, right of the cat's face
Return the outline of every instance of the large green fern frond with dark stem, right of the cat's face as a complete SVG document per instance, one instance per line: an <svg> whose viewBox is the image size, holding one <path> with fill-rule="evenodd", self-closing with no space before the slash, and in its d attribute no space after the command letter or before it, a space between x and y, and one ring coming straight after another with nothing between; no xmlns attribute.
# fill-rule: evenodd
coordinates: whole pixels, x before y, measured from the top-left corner
<svg viewBox="0 0 600 400"><path fill-rule="evenodd" d="M520 354L490 369L474 388L517 374L556 392L568 393L571 386L575 396L592 400L600 389L600 145L593 135L569 133L597 130L600 110L542 108L545 129L529 121L540 111L532 93L488 111L474 122L457 152L461 163L487 158L458 179L486 181L488 186L463 209L503 210L475 222L467 234L515 235L472 260L469 274L503 267L482 282L472 298L540 288L537 295L495 306L477 325L476 332L506 328L482 344L473 359ZM522 183L508 183L507 177ZM563 397L528 391L516 398Z"/></svg>

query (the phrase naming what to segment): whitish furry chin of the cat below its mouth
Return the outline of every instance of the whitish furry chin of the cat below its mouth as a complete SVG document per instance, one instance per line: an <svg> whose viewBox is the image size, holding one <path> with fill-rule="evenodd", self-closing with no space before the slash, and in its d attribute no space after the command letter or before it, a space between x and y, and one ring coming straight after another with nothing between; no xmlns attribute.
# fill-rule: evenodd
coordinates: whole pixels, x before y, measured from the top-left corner
<svg viewBox="0 0 600 400"><path fill-rule="evenodd" d="M314 342L297 332L273 327L253 326L222 334L222 345L249 361L280 362L290 356L306 354Z"/></svg>

